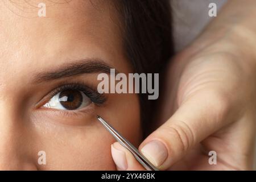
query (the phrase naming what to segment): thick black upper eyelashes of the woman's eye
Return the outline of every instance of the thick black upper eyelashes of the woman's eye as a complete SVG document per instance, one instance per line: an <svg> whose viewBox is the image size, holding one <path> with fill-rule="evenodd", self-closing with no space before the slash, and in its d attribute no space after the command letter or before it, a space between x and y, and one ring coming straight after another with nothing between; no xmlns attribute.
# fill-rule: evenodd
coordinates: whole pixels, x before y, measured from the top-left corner
<svg viewBox="0 0 256 182"><path fill-rule="evenodd" d="M104 96L104 94L98 93L97 90L92 89L91 87L86 86L81 82L72 82L69 84L60 85L49 94L49 98L52 98L57 93L63 92L68 89L79 90L80 92L83 92L97 106L101 106L106 101L106 97Z"/></svg>

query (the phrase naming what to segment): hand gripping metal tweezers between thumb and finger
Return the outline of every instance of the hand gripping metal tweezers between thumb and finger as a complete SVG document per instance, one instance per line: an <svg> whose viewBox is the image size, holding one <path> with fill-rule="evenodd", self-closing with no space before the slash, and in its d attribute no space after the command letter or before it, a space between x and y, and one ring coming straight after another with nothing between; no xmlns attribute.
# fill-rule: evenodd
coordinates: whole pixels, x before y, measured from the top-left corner
<svg viewBox="0 0 256 182"><path fill-rule="evenodd" d="M168 67L156 117L165 122L139 146L161 170L252 169L256 59L240 39L217 40L195 42ZM216 151L216 165L209 151ZM119 143L112 156L117 169L144 169Z"/></svg>

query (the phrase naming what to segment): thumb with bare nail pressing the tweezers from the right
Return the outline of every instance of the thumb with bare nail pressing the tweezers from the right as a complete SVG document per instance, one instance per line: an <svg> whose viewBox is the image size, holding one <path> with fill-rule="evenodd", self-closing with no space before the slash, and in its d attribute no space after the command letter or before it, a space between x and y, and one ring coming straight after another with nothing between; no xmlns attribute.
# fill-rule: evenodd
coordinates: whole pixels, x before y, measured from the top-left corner
<svg viewBox="0 0 256 182"><path fill-rule="evenodd" d="M209 90L194 94L142 142L139 150L156 167L167 169L191 147L233 121L237 115L231 114L231 107L224 94Z"/></svg>

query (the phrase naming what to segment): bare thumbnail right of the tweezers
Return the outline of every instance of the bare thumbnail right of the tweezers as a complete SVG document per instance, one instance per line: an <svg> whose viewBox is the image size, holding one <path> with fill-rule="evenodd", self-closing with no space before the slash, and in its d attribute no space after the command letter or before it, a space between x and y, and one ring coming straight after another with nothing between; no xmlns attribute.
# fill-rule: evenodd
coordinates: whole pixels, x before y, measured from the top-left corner
<svg viewBox="0 0 256 182"><path fill-rule="evenodd" d="M142 149L142 154L156 167L159 167L166 160L168 151L166 146L159 140L152 140Z"/></svg>

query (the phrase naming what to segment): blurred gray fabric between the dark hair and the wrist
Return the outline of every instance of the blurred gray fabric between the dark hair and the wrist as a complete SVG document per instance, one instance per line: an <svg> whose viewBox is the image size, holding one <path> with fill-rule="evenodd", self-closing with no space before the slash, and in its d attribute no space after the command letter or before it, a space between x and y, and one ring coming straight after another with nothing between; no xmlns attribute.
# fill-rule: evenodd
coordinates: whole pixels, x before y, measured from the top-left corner
<svg viewBox="0 0 256 182"><path fill-rule="evenodd" d="M217 12L227 0L170 0L174 18L175 50L187 46L214 17L208 15L209 3L216 3ZM218 15L217 15L218 16Z"/></svg>

